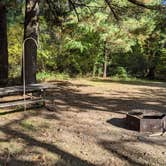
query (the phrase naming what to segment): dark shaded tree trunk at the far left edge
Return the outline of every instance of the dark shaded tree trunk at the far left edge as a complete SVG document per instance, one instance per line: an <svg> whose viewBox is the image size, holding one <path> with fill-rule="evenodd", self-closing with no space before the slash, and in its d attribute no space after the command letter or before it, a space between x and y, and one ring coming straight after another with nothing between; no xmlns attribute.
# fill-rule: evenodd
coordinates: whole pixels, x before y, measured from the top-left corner
<svg viewBox="0 0 166 166"><path fill-rule="evenodd" d="M0 84L8 79L8 42L6 7L0 3Z"/></svg>

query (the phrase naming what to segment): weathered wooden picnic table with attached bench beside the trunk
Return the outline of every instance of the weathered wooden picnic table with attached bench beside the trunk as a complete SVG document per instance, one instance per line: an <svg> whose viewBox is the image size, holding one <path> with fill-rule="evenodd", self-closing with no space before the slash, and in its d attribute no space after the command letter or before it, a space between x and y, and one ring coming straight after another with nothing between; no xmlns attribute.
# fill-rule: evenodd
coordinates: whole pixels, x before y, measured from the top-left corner
<svg viewBox="0 0 166 166"><path fill-rule="evenodd" d="M44 105L45 102L45 90L50 88L48 84L30 84L26 86L26 97L21 99L12 99L8 101L3 101L5 97L23 95L23 86L12 86L0 88L0 109L17 107L17 106L27 106L33 104Z"/></svg>

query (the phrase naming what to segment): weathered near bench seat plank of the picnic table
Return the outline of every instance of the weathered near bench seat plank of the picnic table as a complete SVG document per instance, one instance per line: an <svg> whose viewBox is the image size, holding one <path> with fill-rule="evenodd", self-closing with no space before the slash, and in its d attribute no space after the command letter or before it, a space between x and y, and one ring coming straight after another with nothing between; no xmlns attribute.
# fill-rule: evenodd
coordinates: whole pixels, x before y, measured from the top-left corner
<svg viewBox="0 0 166 166"><path fill-rule="evenodd" d="M15 107L15 106L20 106L24 104L28 105L28 104L35 104L35 103L41 103L41 102L44 102L44 99L14 101L14 102L0 104L0 108Z"/></svg>

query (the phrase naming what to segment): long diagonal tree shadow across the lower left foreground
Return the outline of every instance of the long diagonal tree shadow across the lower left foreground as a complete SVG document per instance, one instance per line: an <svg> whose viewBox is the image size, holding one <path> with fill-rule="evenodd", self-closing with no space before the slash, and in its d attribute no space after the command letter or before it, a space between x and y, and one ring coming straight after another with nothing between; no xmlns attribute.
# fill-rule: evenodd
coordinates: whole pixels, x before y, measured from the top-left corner
<svg viewBox="0 0 166 166"><path fill-rule="evenodd" d="M3 132L4 134L8 135L8 137L10 136L10 138L18 138L18 139L22 139L24 140L24 142L26 143L26 146L29 147L40 147L43 148L49 152L52 152L53 154L57 154L60 156L61 160L57 161L56 163L54 163L54 165L59 165L59 166L63 166L63 165L72 165L72 166L92 166L93 164L80 159L77 156L74 156L72 154L70 154L69 152L65 152L63 150L61 150L60 148L58 148L57 146L53 145L53 144L49 144L49 143L45 143L45 142L41 142L35 138L33 138L32 136L25 134L19 130L14 130L12 129L12 125L16 124L16 123L21 123L22 121L28 119L30 117L30 115L24 115L22 118L11 121L3 126L0 127L0 131ZM10 142L10 138L6 139L6 142ZM1 140L2 141L2 140ZM25 147L26 149L26 147ZM16 154L10 154L9 152L5 152L4 154L0 153L0 164L2 165L12 165L12 166L21 166L21 165L40 165L41 161L39 162L34 162L34 161L26 161L26 160L20 160L19 157L25 153L23 152L19 152ZM47 164L47 163L45 163Z"/></svg>

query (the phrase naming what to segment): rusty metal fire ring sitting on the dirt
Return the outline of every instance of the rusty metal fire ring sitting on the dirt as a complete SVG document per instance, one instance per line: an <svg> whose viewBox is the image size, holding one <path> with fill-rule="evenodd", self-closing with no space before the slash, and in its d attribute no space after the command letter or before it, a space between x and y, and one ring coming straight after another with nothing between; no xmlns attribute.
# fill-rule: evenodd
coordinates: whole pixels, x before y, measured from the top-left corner
<svg viewBox="0 0 166 166"><path fill-rule="evenodd" d="M127 127L139 132L165 132L166 115L162 113L146 112L142 110L128 112L126 114Z"/></svg>

